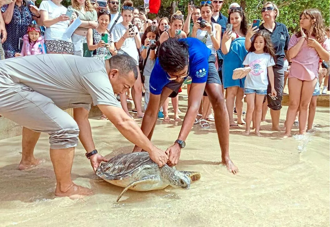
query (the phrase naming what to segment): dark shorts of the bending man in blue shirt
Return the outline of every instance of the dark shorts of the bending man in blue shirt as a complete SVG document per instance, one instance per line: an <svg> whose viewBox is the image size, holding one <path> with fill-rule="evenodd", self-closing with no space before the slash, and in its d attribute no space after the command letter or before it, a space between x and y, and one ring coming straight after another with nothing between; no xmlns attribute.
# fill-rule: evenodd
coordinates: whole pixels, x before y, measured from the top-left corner
<svg viewBox="0 0 330 227"><path fill-rule="evenodd" d="M165 85L165 87L168 87L171 90L173 90L173 92L168 97L174 98L178 95L179 89L182 86L183 81L182 82L171 81L171 82L169 82L168 84ZM218 71L215 68L215 56L213 54L211 54L210 57L209 57L209 72L208 72L206 83L207 84L217 83L217 84L220 84L220 85L222 84L221 81L220 81ZM204 91L203 95L207 96L205 91Z"/></svg>

